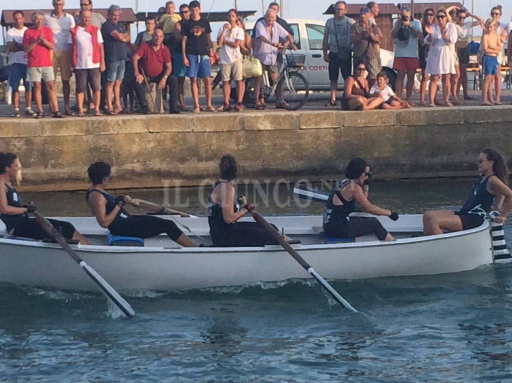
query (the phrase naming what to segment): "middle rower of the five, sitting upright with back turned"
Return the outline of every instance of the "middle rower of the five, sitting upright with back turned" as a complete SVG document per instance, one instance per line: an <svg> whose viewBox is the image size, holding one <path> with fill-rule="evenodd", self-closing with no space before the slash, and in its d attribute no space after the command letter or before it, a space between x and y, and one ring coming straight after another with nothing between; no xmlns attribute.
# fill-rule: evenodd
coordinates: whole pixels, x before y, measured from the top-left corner
<svg viewBox="0 0 512 383"><path fill-rule="evenodd" d="M221 179L211 189L208 206L208 224L211 240L216 246L264 246L275 239L256 222L237 222L254 210L252 204L238 208L233 181L238 177L237 160L230 154L219 163Z"/></svg>

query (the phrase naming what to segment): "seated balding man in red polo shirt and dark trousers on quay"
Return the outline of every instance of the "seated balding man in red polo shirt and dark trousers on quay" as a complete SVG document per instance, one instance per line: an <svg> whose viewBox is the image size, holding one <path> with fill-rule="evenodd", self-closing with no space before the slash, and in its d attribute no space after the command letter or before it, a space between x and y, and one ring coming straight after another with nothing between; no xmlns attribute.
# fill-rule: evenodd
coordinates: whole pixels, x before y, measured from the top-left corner
<svg viewBox="0 0 512 383"><path fill-rule="evenodd" d="M141 60L140 66L139 60ZM144 76L146 76L148 82L158 83L160 89L169 86L169 113L179 114L178 81L176 76L170 74L173 66L170 61L169 49L163 45L163 31L161 29L155 29L152 40L140 45L133 55L132 61L136 80L135 93L144 113L146 115L150 114L143 88Z"/></svg>

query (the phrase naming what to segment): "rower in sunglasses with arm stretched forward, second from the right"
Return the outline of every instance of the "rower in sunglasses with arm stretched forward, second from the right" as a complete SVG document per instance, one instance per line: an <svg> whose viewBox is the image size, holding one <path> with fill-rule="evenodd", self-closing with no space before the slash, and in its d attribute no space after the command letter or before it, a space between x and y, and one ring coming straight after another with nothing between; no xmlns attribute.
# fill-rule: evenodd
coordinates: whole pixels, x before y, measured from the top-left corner
<svg viewBox="0 0 512 383"><path fill-rule="evenodd" d="M377 218L350 217L355 210L355 202L367 213L384 215L396 221L398 213L382 209L368 200L368 179L370 167L365 160L355 158L345 169L346 178L329 195L324 211L324 233L332 238L360 237L375 234L380 241L393 241L393 236L382 227Z"/></svg>

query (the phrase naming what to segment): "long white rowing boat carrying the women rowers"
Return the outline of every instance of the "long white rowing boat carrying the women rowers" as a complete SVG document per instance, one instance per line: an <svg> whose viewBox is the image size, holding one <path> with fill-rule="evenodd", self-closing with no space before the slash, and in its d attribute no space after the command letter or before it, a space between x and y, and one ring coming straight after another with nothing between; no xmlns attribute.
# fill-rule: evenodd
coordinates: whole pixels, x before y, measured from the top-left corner
<svg viewBox="0 0 512 383"><path fill-rule="evenodd" d="M325 243L318 234L322 216L273 216L268 221L284 228L293 239L300 239L294 249L326 279L455 273L493 263L491 227L487 221L471 230L422 236L421 217L401 215L396 222L377 217L398 238L393 242L362 237L350 243ZM100 228L93 217L56 218L72 222L93 243L72 247L120 290L184 290L309 278L279 245L208 246L207 218L173 217L204 237L191 236L207 245L194 248L182 248L164 235L147 239L143 247L112 246L108 244L108 231ZM1 231L5 228L0 222ZM72 290L97 289L58 244L9 236L0 238L0 281Z"/></svg>

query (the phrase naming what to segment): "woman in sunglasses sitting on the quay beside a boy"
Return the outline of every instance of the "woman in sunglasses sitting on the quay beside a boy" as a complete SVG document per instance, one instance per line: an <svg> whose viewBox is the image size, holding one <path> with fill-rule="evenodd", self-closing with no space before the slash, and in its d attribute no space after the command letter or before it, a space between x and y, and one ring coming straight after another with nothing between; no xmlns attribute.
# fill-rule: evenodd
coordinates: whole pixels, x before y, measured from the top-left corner
<svg viewBox="0 0 512 383"><path fill-rule="evenodd" d="M371 110L382 104L381 97L369 97L370 84L365 78L365 72L366 65L361 62L357 65L354 75L347 78L342 97L342 110Z"/></svg>

